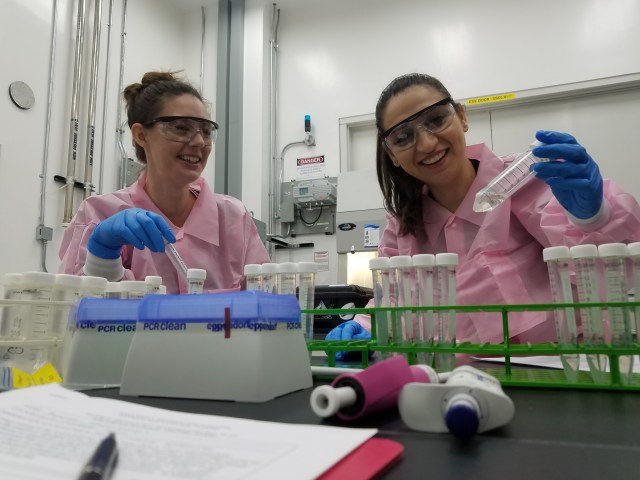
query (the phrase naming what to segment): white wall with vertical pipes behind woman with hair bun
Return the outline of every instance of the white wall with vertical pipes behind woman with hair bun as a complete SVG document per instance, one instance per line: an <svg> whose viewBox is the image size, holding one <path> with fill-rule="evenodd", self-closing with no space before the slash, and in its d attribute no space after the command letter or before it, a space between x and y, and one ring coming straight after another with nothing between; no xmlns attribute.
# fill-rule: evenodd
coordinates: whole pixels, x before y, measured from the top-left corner
<svg viewBox="0 0 640 480"><path fill-rule="evenodd" d="M98 2L86 2L82 100L76 177L84 175L88 128L89 55L93 32L93 11ZM181 70L205 98L213 101L217 74L217 0L103 0L98 72L95 145L92 183L96 193L113 191L119 184L120 150L116 143L117 115L121 108L120 64L123 6L126 4L126 34L123 85L139 81L149 70ZM54 10L56 7L54 78L50 120L47 119L49 71ZM205 7L204 68L202 68L202 6ZM111 11L111 16L109 12ZM71 118L71 80L77 22L77 0L3 0L0 2L0 276L7 272L57 271L62 225L64 189L53 181L65 176ZM111 38L109 44L109 37ZM109 55L107 57L107 47ZM107 62L109 58L109 62ZM108 71L107 71L107 63ZM33 90L35 105L20 110L6 93L14 81L23 81ZM106 110L105 110L106 105ZM215 115L215 105L213 105ZM126 120L122 110L121 120ZM45 148L46 125L49 124ZM125 144L134 156L131 140ZM48 159L44 182L45 155ZM211 160L210 163L212 163ZM213 184L213 166L204 176ZM43 256L36 240L40 223L41 191L45 192L44 225L53 228L53 240ZM82 199L77 192L74 211Z"/></svg>

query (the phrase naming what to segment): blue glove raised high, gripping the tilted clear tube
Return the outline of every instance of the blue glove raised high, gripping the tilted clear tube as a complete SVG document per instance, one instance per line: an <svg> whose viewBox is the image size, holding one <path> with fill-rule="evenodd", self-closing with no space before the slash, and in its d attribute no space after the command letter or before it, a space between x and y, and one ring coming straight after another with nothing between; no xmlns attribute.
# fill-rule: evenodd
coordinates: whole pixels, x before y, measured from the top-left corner
<svg viewBox="0 0 640 480"><path fill-rule="evenodd" d="M531 170L551 187L571 215L582 220L592 218L603 200L602 175L596 162L568 133L540 130L536 138L545 145L533 149L535 156L562 161L535 163Z"/></svg>

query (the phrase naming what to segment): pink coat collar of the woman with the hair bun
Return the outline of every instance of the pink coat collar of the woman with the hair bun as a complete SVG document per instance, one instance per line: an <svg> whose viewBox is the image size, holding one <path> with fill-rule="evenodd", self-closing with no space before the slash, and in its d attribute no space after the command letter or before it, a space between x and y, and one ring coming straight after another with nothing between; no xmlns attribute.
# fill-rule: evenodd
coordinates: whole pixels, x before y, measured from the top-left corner
<svg viewBox="0 0 640 480"><path fill-rule="evenodd" d="M220 245L220 229L218 222L218 203L209 185L200 177L190 184L190 188L197 192L196 203L183 227L177 227L158 209L153 200L144 189L147 183L147 172L143 171L138 181L130 187L133 204L139 208L150 210L162 215L171 225L176 236L180 240L185 232L212 245Z"/></svg>

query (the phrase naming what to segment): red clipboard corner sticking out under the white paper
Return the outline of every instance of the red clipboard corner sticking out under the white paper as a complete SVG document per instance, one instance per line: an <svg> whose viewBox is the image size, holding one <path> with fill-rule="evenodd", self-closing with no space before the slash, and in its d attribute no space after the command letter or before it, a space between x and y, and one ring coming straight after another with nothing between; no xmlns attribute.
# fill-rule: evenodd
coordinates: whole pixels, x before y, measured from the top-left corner
<svg viewBox="0 0 640 480"><path fill-rule="evenodd" d="M404 445L387 438L370 438L336 463L317 480L368 480L377 478L400 461Z"/></svg>

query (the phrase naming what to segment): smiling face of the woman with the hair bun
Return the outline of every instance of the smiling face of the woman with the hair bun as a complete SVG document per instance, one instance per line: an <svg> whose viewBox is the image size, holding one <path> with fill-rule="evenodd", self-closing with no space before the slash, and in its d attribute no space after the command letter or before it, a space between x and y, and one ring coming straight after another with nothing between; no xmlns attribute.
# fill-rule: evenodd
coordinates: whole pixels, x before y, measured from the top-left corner
<svg viewBox="0 0 640 480"><path fill-rule="evenodd" d="M183 94L165 100L157 117L186 116L209 119L203 103L193 95ZM200 133L188 142L170 140L163 135L160 123L131 127L135 142L145 152L149 181L167 188L184 188L200 177L212 145L206 145Z"/></svg>

